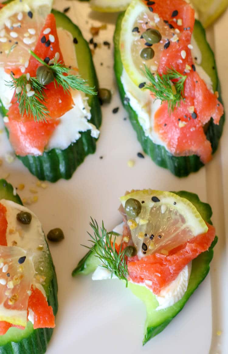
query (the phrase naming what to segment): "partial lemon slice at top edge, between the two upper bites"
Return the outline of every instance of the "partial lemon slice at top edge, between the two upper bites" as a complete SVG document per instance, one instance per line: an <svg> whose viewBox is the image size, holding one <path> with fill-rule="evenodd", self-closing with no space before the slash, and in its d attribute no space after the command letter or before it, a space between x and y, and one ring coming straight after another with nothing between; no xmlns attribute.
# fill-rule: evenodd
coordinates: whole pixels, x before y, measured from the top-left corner
<svg viewBox="0 0 228 354"><path fill-rule="evenodd" d="M118 12L126 10L131 0L91 0L90 7L94 11Z"/></svg>

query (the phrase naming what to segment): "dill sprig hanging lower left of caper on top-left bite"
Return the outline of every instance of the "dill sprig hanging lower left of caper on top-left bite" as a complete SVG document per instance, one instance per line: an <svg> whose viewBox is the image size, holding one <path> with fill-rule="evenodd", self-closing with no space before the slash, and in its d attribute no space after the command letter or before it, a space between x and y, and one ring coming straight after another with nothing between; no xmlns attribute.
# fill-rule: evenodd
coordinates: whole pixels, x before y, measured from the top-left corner
<svg viewBox="0 0 228 354"><path fill-rule="evenodd" d="M48 108L45 105L45 86L40 84L37 78L29 78L27 80L25 74L19 78L15 78L12 73L10 76L12 80L6 81L5 85L16 90L15 96L19 102L20 115L23 117L24 113L26 113L29 118L33 116L37 122L46 122L46 119L50 116ZM30 96L29 92L34 92L34 94Z"/></svg>

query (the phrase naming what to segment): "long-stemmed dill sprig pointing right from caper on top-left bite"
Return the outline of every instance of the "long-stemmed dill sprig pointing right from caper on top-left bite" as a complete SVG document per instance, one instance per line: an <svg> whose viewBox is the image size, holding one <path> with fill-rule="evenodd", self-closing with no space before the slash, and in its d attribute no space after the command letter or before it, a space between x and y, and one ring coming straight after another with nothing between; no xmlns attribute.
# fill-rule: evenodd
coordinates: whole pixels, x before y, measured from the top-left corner
<svg viewBox="0 0 228 354"><path fill-rule="evenodd" d="M56 59L54 59L53 65L48 65L42 59L40 59L33 51L30 50L29 53L35 59L37 59L38 62L52 69L55 78L54 81L55 85L57 82L58 86L63 87L64 92L69 92L70 89L73 89L73 90L82 91L87 95L97 95L97 92L94 91L95 87L89 87L87 85L87 81L80 78L80 76L68 75L68 73L71 71L71 68L67 67L61 62L57 62Z"/></svg>

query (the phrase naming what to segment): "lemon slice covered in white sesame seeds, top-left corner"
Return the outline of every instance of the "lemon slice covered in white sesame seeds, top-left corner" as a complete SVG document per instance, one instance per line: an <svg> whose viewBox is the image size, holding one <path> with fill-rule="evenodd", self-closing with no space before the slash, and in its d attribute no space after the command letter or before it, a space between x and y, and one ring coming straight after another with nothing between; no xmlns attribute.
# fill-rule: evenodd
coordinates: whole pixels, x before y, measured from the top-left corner
<svg viewBox="0 0 228 354"><path fill-rule="evenodd" d="M51 11L52 0L14 0L0 11L0 65L17 68L29 58L40 28Z"/></svg>

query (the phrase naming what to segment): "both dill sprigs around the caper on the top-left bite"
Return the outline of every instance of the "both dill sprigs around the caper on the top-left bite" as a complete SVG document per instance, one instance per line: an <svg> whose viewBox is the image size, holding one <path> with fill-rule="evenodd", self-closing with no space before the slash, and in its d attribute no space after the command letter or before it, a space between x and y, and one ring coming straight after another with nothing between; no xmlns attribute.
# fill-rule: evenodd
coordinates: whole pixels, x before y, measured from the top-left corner
<svg viewBox="0 0 228 354"><path fill-rule="evenodd" d="M70 68L62 64L61 61L57 62L54 59L52 65L48 65L42 59L40 59L33 51L29 50L30 55L40 62L43 67L48 68L54 75L55 87L62 86L65 93L70 92L70 89L79 90L87 95L96 95L94 87L89 87L87 82L77 75L68 75ZM19 102L19 112L23 117L24 113L27 114L29 118L32 116L34 120L45 121L49 116L49 110L45 106L46 103L46 89L45 85L41 84L37 77L28 78L25 74L21 75L19 78L14 78L11 74L11 81L6 81L6 86L16 89L16 98Z"/></svg>

